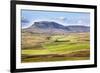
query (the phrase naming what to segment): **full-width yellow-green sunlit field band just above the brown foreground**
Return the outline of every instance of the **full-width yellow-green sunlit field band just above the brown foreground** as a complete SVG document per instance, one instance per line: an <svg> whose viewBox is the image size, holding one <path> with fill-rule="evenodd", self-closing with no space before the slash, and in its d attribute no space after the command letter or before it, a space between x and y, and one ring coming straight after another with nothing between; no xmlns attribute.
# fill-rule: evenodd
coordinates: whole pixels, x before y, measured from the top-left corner
<svg viewBox="0 0 100 73"><path fill-rule="evenodd" d="M89 49L88 44L74 44L74 45L45 45L47 49L44 50L22 50L22 54L40 55L40 54L59 54L59 53L70 53L73 51L79 51Z"/></svg>

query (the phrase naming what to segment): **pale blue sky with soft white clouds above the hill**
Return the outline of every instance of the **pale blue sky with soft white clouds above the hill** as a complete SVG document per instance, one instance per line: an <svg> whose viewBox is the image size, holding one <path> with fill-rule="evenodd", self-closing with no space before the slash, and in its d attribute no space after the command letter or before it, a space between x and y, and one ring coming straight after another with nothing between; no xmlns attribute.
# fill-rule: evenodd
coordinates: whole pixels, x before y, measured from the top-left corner
<svg viewBox="0 0 100 73"><path fill-rule="evenodd" d="M62 11L36 11L21 10L22 28L28 28L36 21L55 21L64 26L83 25L90 26L90 13L62 12Z"/></svg>

